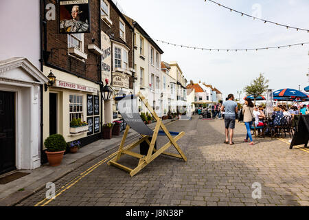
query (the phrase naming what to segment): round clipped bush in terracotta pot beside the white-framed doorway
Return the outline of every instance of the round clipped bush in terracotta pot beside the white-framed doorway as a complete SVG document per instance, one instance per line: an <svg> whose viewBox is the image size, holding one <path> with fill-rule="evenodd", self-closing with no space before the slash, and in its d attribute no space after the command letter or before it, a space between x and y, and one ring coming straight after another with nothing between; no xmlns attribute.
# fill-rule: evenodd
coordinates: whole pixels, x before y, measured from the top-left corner
<svg viewBox="0 0 309 220"><path fill-rule="evenodd" d="M62 162L63 154L67 148L65 137L59 134L50 135L44 142L47 148L46 154L50 166L59 166Z"/></svg>

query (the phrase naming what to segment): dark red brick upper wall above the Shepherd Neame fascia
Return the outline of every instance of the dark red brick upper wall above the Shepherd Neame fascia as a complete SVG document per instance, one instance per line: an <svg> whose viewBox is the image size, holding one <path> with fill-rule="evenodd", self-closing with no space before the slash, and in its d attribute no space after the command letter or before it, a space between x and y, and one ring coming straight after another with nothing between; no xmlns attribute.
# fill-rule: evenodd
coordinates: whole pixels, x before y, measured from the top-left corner
<svg viewBox="0 0 309 220"><path fill-rule="evenodd" d="M91 44L91 39L95 39L95 45L100 47L100 26L99 26L99 13L100 13L100 0L89 0L90 14L91 14L91 32L84 33L84 53L88 55L85 62L69 56L67 52L67 34L59 34L58 29L58 5L56 0L47 0L48 3L56 5L56 21L47 21L47 51L51 52L48 63L61 67L62 69L94 80L100 80L100 56L88 50L88 45ZM45 5L42 3L42 13L44 13ZM43 14L43 16L45 16ZM44 40L43 40L44 44ZM44 47L43 47L44 48ZM46 65L46 63L45 63Z"/></svg>

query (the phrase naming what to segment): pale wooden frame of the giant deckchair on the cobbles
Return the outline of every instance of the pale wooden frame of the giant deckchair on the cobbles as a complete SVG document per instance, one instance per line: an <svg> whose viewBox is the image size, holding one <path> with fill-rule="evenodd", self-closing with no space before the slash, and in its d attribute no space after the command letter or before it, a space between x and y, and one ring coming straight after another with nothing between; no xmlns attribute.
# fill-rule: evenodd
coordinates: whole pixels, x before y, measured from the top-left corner
<svg viewBox="0 0 309 220"><path fill-rule="evenodd" d="M176 143L176 141L179 140L181 137L183 137L183 135L185 135L185 133L182 131L181 133L177 133L178 135L176 135L176 137L172 137L172 135L171 135L172 132L170 133L170 131L168 131L168 129L163 124L161 118L158 117L157 113L155 113L155 111L152 109L152 107L148 104L146 98L140 92L139 92L137 97L139 97L141 99L141 101L144 102L147 109L150 111L150 113L153 115L153 117L157 121L156 122L157 124L155 126L155 130L154 131L151 130L151 132L146 131L147 135L141 133L140 130L139 130L141 138L139 140L136 140L132 144L128 144L127 146L124 146L124 142L126 141L128 131L130 130L130 120L126 120L126 123L127 123L126 130L124 131L124 136L122 137L122 141L120 142L120 146L119 146L119 149L117 151L117 155L115 157L113 157L113 159L111 159L108 162L108 165L113 165L113 166L116 166L118 168L121 168L122 170L126 170L128 173L130 173L130 176L133 177L142 168L144 168L145 166L150 164L150 162L152 162L152 160L154 160L155 158L157 158L161 154L169 155L171 157L181 158L186 162L187 157L185 157L183 151L181 151L181 148ZM120 108L118 107L118 109L120 109ZM125 111L123 111L123 112L119 111L119 112L120 112L120 114L128 113L128 112L125 112ZM138 111L137 111L137 113L138 113ZM140 120L141 120L141 118L140 118ZM136 119L135 119L135 122L136 122ZM144 122L142 120L141 120L141 122L142 122L142 124L144 124ZM140 124L140 126L142 126L142 124ZM144 126L146 126L146 125L144 124ZM148 128L148 126L146 126L146 127ZM160 128L163 131L159 131ZM155 143L157 141L158 135L161 135L161 134L166 135L170 141L168 143L166 143L164 146L162 146L161 148L159 148L159 150L156 150L154 148L154 146L155 146ZM148 137L151 137L151 142L148 140ZM141 142L144 142L144 141L146 141L149 144L149 149L148 149L147 155L141 155L139 153L135 153L135 152L131 151L133 148L135 148L135 146L138 146L139 144L141 144ZM178 151L179 154L165 152L171 145L174 145L174 147L176 148L176 151ZM153 153L153 152L155 152L155 153ZM132 169L132 168L128 168L127 166L124 166L122 164L117 163L117 161L123 155L130 155L130 156L139 158L139 163L138 163L137 167Z"/></svg>

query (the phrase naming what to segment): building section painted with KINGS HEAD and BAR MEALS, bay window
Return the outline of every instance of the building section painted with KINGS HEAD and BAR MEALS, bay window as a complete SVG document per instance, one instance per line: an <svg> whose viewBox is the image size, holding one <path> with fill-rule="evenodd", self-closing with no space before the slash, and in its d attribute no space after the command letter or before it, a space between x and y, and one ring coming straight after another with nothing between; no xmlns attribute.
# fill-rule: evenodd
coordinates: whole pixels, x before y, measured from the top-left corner
<svg viewBox="0 0 309 220"><path fill-rule="evenodd" d="M104 100L104 123L122 120L117 110L115 96L133 94L133 26L111 0L100 1L100 28L102 56L102 81L106 79L114 93L111 100ZM107 110L107 111L106 111ZM111 113L112 111L112 113ZM124 123L122 123L124 124ZM124 126L122 126L124 129Z"/></svg>

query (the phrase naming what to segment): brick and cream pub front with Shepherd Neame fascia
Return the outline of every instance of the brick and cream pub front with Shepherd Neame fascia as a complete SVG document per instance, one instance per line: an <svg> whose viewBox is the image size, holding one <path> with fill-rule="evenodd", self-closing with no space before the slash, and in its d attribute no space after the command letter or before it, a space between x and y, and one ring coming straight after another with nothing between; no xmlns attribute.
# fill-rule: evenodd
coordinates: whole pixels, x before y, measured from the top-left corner
<svg viewBox="0 0 309 220"><path fill-rule="evenodd" d="M41 2L43 73L55 77L43 92L43 140L59 133L66 142L80 140L84 146L102 138L100 1ZM71 32L62 30L62 21L71 19L71 10L78 10L76 3L82 3L78 13L84 19L81 26L88 30L72 33L73 26ZM48 19L50 5L56 7L55 19ZM88 126L73 126L74 118Z"/></svg>

